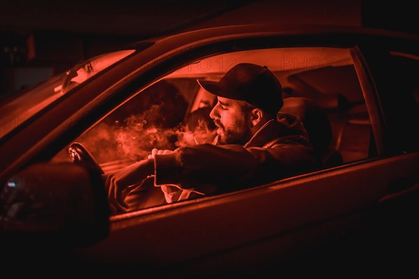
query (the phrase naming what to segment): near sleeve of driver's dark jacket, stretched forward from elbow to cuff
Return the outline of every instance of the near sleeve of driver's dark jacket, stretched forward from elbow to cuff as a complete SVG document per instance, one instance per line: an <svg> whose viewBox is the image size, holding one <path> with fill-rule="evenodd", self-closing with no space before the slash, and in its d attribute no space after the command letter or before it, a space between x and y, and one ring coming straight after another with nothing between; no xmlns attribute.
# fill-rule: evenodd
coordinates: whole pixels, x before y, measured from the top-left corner
<svg viewBox="0 0 419 279"><path fill-rule="evenodd" d="M184 146L154 159L155 184L180 183L198 191L201 182L273 181L315 163L311 148L302 144L276 144L270 148L230 144Z"/></svg>

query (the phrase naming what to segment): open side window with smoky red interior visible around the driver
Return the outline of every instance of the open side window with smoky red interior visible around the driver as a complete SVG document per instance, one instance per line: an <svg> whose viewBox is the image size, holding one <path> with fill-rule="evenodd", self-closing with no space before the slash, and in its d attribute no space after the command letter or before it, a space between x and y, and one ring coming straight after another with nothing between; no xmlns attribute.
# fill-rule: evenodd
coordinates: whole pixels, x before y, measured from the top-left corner
<svg viewBox="0 0 419 279"><path fill-rule="evenodd" d="M374 136L351 52L336 47L286 47L230 52L191 61L142 89L75 142L89 149L105 173L147 159L152 149L214 144L210 118L216 97L199 80L220 78L237 63L267 66L281 82L281 114L304 124L321 167L375 156ZM70 160L68 147L54 160ZM204 197L205 198L205 197ZM126 197L128 211L167 204L152 180Z"/></svg>

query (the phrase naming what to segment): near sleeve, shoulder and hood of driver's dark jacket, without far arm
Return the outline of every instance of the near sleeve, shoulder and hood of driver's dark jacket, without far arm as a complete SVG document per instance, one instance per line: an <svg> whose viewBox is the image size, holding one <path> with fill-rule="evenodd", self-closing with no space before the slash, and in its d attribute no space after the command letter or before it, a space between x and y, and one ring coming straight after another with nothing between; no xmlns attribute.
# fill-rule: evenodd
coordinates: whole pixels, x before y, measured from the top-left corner
<svg viewBox="0 0 419 279"><path fill-rule="evenodd" d="M155 181L209 194L256 186L316 165L301 121L289 114L268 121L244 144L198 144L156 156ZM164 191L164 190L163 190Z"/></svg>

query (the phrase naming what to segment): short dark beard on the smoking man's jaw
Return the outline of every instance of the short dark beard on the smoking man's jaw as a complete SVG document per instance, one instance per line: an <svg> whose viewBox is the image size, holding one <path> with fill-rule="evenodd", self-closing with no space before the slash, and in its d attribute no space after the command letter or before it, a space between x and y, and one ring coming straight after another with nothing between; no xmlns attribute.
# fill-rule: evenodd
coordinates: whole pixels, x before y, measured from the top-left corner
<svg viewBox="0 0 419 279"><path fill-rule="evenodd" d="M229 127L223 126L217 120L214 120L216 126L218 126L217 134L219 135L219 144L246 144L251 138L251 131L244 120L239 121Z"/></svg>

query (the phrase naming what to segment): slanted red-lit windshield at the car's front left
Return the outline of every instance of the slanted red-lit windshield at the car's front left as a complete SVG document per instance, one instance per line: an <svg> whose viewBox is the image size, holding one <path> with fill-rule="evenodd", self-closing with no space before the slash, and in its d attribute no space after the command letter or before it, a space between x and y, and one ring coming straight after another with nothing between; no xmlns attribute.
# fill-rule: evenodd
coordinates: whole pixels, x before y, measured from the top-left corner
<svg viewBox="0 0 419 279"><path fill-rule="evenodd" d="M16 96L4 100L1 107L0 138L20 126L44 107L64 96L68 91L82 84L105 68L124 59L135 50L119 50L102 54L78 63L76 66L33 89L17 93Z"/></svg>

